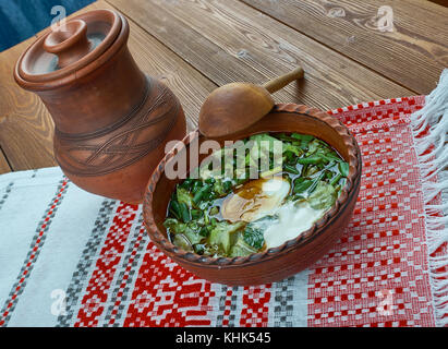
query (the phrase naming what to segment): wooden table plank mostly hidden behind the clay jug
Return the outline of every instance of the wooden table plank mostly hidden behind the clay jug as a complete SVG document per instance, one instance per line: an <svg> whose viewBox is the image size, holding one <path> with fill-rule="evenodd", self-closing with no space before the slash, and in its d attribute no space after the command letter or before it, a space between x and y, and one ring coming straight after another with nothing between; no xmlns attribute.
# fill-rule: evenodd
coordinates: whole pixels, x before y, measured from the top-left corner
<svg viewBox="0 0 448 349"><path fill-rule="evenodd" d="M111 7L98 1L77 13L98 8ZM135 61L180 98L191 130L197 123L202 101L216 85L132 21L130 25L129 47ZM0 146L15 171L57 165L52 156L52 120L40 99L20 88L12 75L19 56L35 39L0 53Z"/></svg>

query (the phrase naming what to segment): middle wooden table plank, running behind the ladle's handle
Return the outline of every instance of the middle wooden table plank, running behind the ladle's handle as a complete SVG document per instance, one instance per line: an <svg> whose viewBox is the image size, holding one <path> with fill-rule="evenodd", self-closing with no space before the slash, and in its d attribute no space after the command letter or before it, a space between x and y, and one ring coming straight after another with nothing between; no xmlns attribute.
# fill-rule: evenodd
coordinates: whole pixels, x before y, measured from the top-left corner
<svg viewBox="0 0 448 349"><path fill-rule="evenodd" d="M218 85L264 83L301 63L277 101L324 110L414 93L238 0L108 0Z"/></svg>

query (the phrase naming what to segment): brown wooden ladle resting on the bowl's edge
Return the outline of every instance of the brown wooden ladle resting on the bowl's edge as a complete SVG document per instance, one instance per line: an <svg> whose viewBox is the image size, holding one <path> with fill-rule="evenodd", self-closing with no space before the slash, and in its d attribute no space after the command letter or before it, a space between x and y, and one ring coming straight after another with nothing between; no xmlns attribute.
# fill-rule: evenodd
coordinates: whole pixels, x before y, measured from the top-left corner
<svg viewBox="0 0 448 349"><path fill-rule="evenodd" d="M303 69L299 67L263 86L231 83L218 87L201 108L199 132L206 137L222 137L249 128L274 108L270 94L303 75Z"/></svg>

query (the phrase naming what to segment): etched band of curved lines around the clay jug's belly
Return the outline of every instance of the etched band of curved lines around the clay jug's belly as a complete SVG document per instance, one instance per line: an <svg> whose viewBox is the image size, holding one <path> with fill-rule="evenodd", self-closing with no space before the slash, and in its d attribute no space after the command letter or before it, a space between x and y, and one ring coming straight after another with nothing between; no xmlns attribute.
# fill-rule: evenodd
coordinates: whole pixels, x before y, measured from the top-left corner
<svg viewBox="0 0 448 349"><path fill-rule="evenodd" d="M116 124L88 134L64 134L56 130L56 159L64 171L75 176L114 172L162 144L180 111L174 94L148 79L144 100Z"/></svg>

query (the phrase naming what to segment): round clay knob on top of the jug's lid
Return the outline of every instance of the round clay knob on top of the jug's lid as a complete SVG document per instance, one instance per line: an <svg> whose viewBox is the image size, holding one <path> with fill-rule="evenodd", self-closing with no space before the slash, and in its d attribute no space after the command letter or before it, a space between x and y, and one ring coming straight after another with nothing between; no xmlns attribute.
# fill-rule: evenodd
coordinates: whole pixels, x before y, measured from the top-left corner
<svg viewBox="0 0 448 349"><path fill-rule="evenodd" d="M59 68L80 60L90 51L87 24L83 20L73 20L58 26L45 39L44 49L58 56Z"/></svg>

